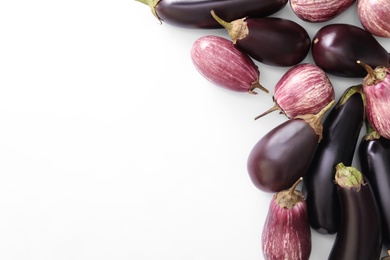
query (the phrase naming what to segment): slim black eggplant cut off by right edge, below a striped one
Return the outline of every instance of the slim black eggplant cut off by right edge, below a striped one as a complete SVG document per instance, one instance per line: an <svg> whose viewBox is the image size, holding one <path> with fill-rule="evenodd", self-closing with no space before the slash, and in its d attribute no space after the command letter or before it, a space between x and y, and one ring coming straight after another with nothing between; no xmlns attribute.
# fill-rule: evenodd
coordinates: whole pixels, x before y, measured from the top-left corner
<svg viewBox="0 0 390 260"><path fill-rule="evenodd" d="M390 140L363 137L358 155L362 172L371 183L381 212L383 245L390 249Z"/></svg>

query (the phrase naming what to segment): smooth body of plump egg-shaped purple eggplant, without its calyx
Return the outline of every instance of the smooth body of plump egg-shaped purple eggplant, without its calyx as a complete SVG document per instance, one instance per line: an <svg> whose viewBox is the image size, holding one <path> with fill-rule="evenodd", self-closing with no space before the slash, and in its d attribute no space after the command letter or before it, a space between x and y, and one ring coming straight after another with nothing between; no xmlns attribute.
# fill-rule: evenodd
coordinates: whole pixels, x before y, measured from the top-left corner
<svg viewBox="0 0 390 260"><path fill-rule="evenodd" d="M265 192L291 187L303 176L318 135L302 119L289 119L264 135L252 148L247 169L253 184Z"/></svg>

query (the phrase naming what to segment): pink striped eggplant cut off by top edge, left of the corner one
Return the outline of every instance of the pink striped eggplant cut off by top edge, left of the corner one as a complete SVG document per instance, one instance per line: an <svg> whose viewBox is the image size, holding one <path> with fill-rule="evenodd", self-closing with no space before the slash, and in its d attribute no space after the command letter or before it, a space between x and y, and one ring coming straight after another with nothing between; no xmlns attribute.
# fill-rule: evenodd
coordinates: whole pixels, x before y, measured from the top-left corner
<svg viewBox="0 0 390 260"><path fill-rule="evenodd" d="M356 0L290 0L293 12L306 22L326 22L347 10Z"/></svg>

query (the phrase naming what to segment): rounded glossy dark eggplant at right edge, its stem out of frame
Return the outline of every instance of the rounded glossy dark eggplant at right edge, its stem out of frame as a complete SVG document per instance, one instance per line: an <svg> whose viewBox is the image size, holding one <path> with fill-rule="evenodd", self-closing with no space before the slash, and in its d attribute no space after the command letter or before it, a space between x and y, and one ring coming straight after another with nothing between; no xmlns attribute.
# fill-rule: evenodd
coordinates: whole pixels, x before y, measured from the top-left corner
<svg viewBox="0 0 390 260"><path fill-rule="evenodd" d="M367 71L357 60L375 68L390 67L389 52L368 31L351 24L329 24L313 37L312 55L317 66L341 77L358 78Z"/></svg>

